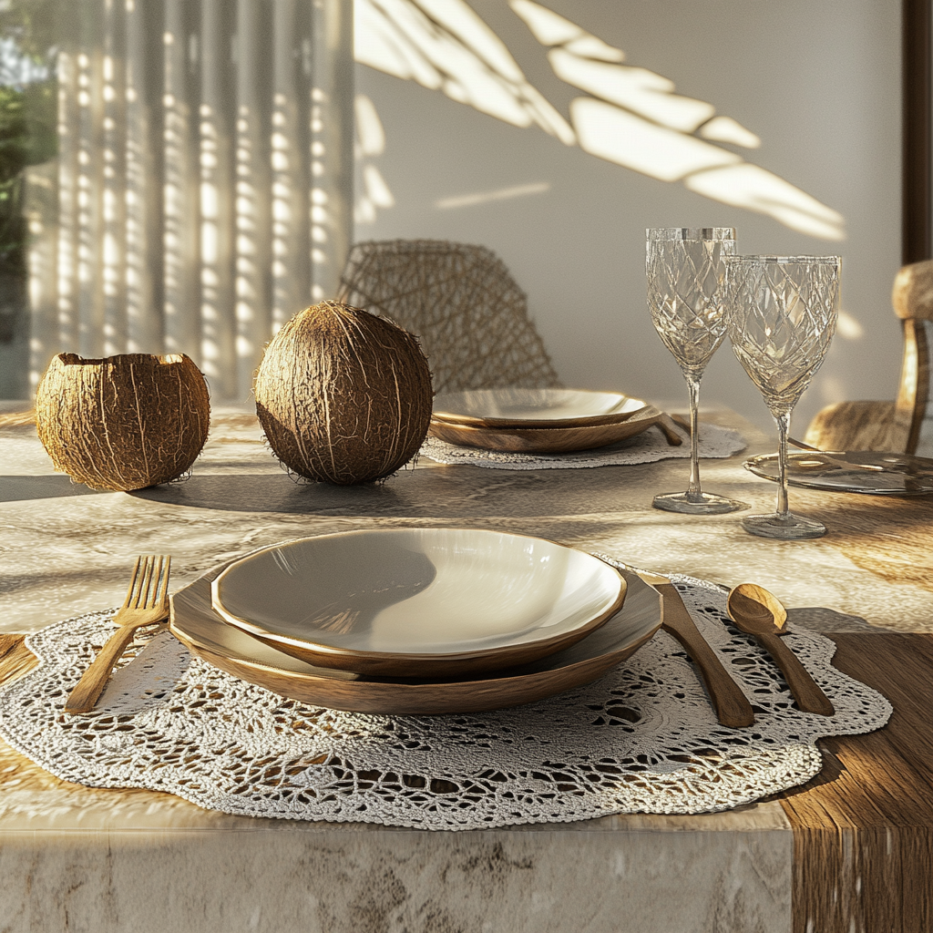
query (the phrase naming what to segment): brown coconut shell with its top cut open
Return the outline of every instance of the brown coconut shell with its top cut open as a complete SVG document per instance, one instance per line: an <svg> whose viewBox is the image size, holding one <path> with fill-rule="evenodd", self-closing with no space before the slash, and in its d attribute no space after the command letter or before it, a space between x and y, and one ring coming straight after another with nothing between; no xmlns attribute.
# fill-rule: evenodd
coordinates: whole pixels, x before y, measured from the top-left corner
<svg viewBox="0 0 933 933"><path fill-rule="evenodd" d="M184 354L59 354L35 393L35 426L55 468L93 489L177 479L207 439L211 404Z"/></svg>

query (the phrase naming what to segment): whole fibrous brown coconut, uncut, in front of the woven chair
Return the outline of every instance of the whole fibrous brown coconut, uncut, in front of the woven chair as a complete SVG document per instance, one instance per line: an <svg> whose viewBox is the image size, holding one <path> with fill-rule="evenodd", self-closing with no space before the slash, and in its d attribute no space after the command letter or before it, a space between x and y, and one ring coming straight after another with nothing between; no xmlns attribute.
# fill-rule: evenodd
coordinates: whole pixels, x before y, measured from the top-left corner
<svg viewBox="0 0 933 933"><path fill-rule="evenodd" d="M431 421L418 341L338 301L296 314L266 347L256 411L285 466L309 480L380 480L417 453Z"/></svg>

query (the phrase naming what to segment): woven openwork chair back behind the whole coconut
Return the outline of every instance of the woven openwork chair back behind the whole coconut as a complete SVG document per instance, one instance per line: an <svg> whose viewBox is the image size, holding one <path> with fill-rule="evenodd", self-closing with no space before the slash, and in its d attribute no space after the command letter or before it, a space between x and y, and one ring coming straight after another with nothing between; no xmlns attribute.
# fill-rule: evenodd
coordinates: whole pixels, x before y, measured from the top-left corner
<svg viewBox="0 0 933 933"><path fill-rule="evenodd" d="M560 384L524 292L483 246L440 240L356 244L338 299L416 334L435 392Z"/></svg>

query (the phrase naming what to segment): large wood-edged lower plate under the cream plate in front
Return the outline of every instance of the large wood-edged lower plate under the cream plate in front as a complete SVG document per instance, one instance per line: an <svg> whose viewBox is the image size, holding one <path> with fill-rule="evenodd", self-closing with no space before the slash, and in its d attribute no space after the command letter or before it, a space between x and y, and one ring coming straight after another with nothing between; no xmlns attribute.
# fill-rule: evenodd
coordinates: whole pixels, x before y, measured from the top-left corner
<svg viewBox="0 0 933 933"><path fill-rule="evenodd" d="M623 571L625 603L601 628L547 658L462 680L375 677L313 667L233 628L211 606L217 567L171 597L174 636L193 654L280 696L356 713L477 713L534 703L597 680L661 627L661 597Z"/></svg>

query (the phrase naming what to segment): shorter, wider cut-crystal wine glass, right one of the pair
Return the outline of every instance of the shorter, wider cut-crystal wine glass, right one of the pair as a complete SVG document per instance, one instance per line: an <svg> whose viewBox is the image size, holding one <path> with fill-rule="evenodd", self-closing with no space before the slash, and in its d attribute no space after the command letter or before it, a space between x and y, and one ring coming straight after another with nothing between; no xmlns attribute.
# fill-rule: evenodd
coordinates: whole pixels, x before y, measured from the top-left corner
<svg viewBox="0 0 933 933"><path fill-rule="evenodd" d="M826 525L787 508L790 413L829 350L838 314L838 256L733 256L727 259L727 326L732 351L777 423L777 510L749 515L745 531L811 538Z"/></svg>

